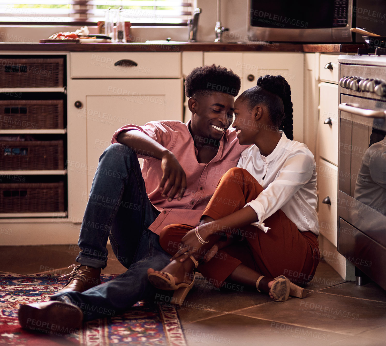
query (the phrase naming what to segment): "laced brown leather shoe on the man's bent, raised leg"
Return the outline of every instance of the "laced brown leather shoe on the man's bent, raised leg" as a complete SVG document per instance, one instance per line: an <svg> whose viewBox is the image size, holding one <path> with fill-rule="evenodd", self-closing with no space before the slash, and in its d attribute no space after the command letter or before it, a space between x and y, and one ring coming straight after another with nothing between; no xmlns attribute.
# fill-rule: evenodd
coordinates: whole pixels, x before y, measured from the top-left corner
<svg viewBox="0 0 386 346"><path fill-rule="evenodd" d="M100 282L100 268L93 268L82 265L71 265L68 268L73 267L71 273L62 275L69 276L66 286L64 286L58 292L64 291L77 291L84 292L89 288L99 285Z"/></svg>

